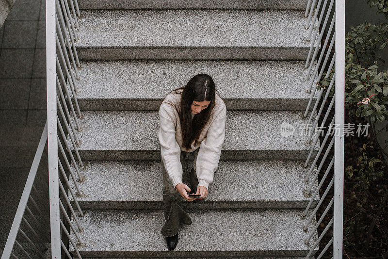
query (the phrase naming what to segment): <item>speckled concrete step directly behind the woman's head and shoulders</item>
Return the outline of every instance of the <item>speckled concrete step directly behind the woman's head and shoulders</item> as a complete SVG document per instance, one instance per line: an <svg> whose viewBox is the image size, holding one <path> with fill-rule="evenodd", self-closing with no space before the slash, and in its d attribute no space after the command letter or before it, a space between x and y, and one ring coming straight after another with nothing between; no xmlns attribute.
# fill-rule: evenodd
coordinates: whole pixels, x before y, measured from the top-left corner
<svg viewBox="0 0 388 259"><path fill-rule="evenodd" d="M310 95L304 63L83 61L77 99L81 110L159 110L169 91L207 73L228 110L305 110Z"/></svg>

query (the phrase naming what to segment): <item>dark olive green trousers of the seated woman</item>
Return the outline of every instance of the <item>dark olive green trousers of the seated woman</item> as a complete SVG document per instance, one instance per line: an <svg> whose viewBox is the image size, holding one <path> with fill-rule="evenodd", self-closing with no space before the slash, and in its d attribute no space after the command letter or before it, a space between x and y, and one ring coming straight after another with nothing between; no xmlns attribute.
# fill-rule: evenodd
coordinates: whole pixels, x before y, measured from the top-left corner
<svg viewBox="0 0 388 259"><path fill-rule="evenodd" d="M191 153L194 156L194 164L196 163L196 158L198 155L199 147L192 151ZM180 151L180 163L184 164L184 159L186 157L186 151ZM183 174L185 170L183 170ZM171 182L166 169L164 168L164 163L162 160L162 172L163 172L163 212L165 223L162 227L162 235L166 237L172 237L178 233L180 223L190 225L192 220L185 210L182 208L182 200L184 198L180 195L177 189L174 188L173 183ZM214 173L215 174L215 173ZM198 178L196 176L196 171L194 168L190 171L190 185L188 185L191 190L196 193ZM196 202L202 204L205 201L206 197L203 199L195 199L191 202Z"/></svg>

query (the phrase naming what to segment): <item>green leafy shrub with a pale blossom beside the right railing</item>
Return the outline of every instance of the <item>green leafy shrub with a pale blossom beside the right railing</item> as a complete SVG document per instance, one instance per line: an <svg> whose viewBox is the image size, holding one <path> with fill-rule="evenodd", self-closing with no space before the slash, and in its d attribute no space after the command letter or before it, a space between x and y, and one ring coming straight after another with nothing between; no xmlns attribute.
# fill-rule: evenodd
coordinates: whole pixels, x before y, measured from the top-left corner
<svg viewBox="0 0 388 259"><path fill-rule="evenodd" d="M385 60L377 50L388 48L388 24L379 26L364 22L345 37L345 108L349 117L354 114L370 117L372 123L388 119L388 71L379 71ZM326 88L334 75L319 82L319 89ZM334 87L330 96L334 94ZM388 128L387 128L388 129Z"/></svg>

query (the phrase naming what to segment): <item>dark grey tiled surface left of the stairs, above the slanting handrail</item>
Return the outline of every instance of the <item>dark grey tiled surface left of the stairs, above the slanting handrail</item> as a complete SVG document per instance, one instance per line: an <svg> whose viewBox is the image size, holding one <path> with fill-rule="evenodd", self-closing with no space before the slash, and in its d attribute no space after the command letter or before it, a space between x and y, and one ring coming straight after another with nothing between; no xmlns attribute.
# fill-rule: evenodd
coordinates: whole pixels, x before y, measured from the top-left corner
<svg viewBox="0 0 388 259"><path fill-rule="evenodd" d="M45 23L45 0L16 0L0 29L0 254L46 122Z"/></svg>

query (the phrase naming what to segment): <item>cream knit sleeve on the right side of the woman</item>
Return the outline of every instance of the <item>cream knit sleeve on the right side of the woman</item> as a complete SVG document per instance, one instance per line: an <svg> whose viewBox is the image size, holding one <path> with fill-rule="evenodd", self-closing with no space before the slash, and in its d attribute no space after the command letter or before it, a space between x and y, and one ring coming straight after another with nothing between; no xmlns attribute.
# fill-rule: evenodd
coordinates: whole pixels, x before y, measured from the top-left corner
<svg viewBox="0 0 388 259"><path fill-rule="evenodd" d="M218 168L221 155L221 147L225 139L226 106L223 103L222 110L211 123L206 137L199 147L196 174L198 186L205 186L209 189L209 184L213 181L214 172Z"/></svg>

